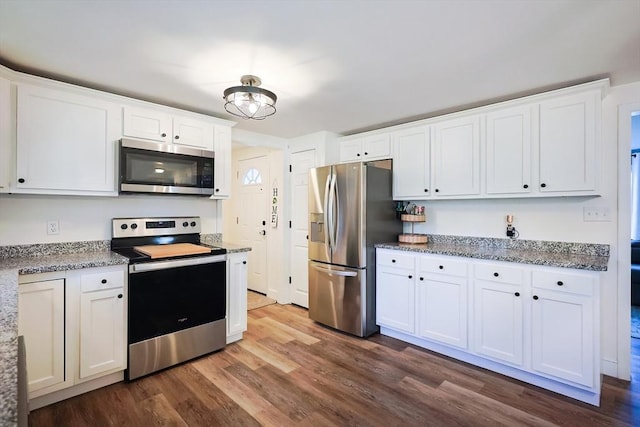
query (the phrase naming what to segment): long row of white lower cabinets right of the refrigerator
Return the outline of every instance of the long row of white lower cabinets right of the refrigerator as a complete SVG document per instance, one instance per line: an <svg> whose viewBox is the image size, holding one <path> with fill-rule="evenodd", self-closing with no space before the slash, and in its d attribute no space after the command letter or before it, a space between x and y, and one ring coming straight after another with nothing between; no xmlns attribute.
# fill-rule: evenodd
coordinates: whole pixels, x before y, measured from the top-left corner
<svg viewBox="0 0 640 427"><path fill-rule="evenodd" d="M381 334L599 405L598 272L381 248L376 256Z"/></svg>

